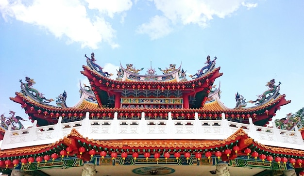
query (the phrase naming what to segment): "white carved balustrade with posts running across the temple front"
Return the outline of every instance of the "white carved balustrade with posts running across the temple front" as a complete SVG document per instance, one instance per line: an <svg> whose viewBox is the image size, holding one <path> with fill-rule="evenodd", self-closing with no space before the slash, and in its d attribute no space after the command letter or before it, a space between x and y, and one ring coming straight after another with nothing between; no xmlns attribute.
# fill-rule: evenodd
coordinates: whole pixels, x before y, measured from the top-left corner
<svg viewBox="0 0 304 176"><path fill-rule="evenodd" d="M171 113L168 120L145 119L142 112L141 119L118 119L115 112L114 119L89 119L89 112L81 121L61 123L59 117L55 125L36 127L36 121L31 128L8 130L4 134L1 149L51 144L67 136L73 128L89 139L199 139L199 140L223 140L231 136L238 128L242 128L254 141L279 147L303 149L301 133L295 131L255 126L251 118L249 124L231 122L221 114L221 120L199 120L195 113L195 120L172 119Z"/></svg>

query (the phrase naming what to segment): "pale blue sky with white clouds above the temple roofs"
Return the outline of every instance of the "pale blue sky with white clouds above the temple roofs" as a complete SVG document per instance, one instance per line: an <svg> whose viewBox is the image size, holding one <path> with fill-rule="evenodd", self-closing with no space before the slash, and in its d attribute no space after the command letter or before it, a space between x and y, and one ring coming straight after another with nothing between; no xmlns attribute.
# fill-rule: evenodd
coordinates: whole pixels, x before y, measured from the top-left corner
<svg viewBox="0 0 304 176"><path fill-rule="evenodd" d="M227 107L236 92L255 100L275 79L291 100L276 113L285 117L304 106L303 9L303 0L0 0L0 113L28 118L9 99L26 76L48 99L66 90L74 106L84 54L94 52L115 75L119 62L145 74L150 61L193 75L217 56Z"/></svg>

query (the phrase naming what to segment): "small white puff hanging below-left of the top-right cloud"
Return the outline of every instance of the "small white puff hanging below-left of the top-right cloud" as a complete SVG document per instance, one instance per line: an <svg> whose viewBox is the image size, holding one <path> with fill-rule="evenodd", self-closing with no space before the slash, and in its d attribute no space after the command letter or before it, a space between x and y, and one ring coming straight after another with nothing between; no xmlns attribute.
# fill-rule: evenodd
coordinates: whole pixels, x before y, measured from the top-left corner
<svg viewBox="0 0 304 176"><path fill-rule="evenodd" d="M172 31L169 26L169 20L163 16L154 16L150 19L149 23L140 25L136 32L141 34L148 34L151 40L161 38L168 35Z"/></svg>

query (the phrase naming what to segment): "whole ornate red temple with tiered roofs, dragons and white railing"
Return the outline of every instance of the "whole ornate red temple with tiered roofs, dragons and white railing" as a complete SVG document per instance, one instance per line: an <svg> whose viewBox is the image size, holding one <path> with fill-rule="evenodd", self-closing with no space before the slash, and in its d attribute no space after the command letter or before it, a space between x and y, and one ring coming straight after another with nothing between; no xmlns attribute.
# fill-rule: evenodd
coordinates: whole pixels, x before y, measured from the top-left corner
<svg viewBox="0 0 304 176"><path fill-rule="evenodd" d="M288 103L280 82L267 82L258 99L236 93L236 106L220 100L217 57L188 75L182 65L136 69L120 64L117 78L85 55L73 107L64 91L47 99L29 77L10 99L32 120L1 115L0 167L14 176L296 176L304 175L304 142L297 124L270 124ZM203 62L202 62L203 63ZM52 101L56 105L51 105ZM248 106L252 103L253 106ZM294 123L294 120L292 121ZM272 125L272 126L269 126ZM287 127L288 128L285 128Z"/></svg>

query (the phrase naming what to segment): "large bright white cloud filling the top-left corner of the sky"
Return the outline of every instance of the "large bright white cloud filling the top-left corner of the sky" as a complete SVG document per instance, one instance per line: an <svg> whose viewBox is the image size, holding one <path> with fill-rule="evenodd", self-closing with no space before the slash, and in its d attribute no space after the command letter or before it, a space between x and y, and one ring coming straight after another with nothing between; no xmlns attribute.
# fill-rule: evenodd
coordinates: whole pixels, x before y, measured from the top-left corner
<svg viewBox="0 0 304 176"><path fill-rule="evenodd" d="M92 9L106 11L107 15L113 17L115 13L128 10L132 2L125 1L116 6L115 3L98 3L100 1L88 0L89 4L81 0L33 0L32 3L17 0L9 2L0 1L0 13L3 18L16 18L17 20L34 24L46 29L58 38L67 37L68 43L78 42L82 48L97 49L101 42L108 43L112 48L119 45L114 42L116 31L103 16L88 16L85 5ZM108 2L108 1L102 1ZM114 2L114 1L111 1ZM116 3L118 3L116 1ZM105 10L101 6L108 8Z"/></svg>

